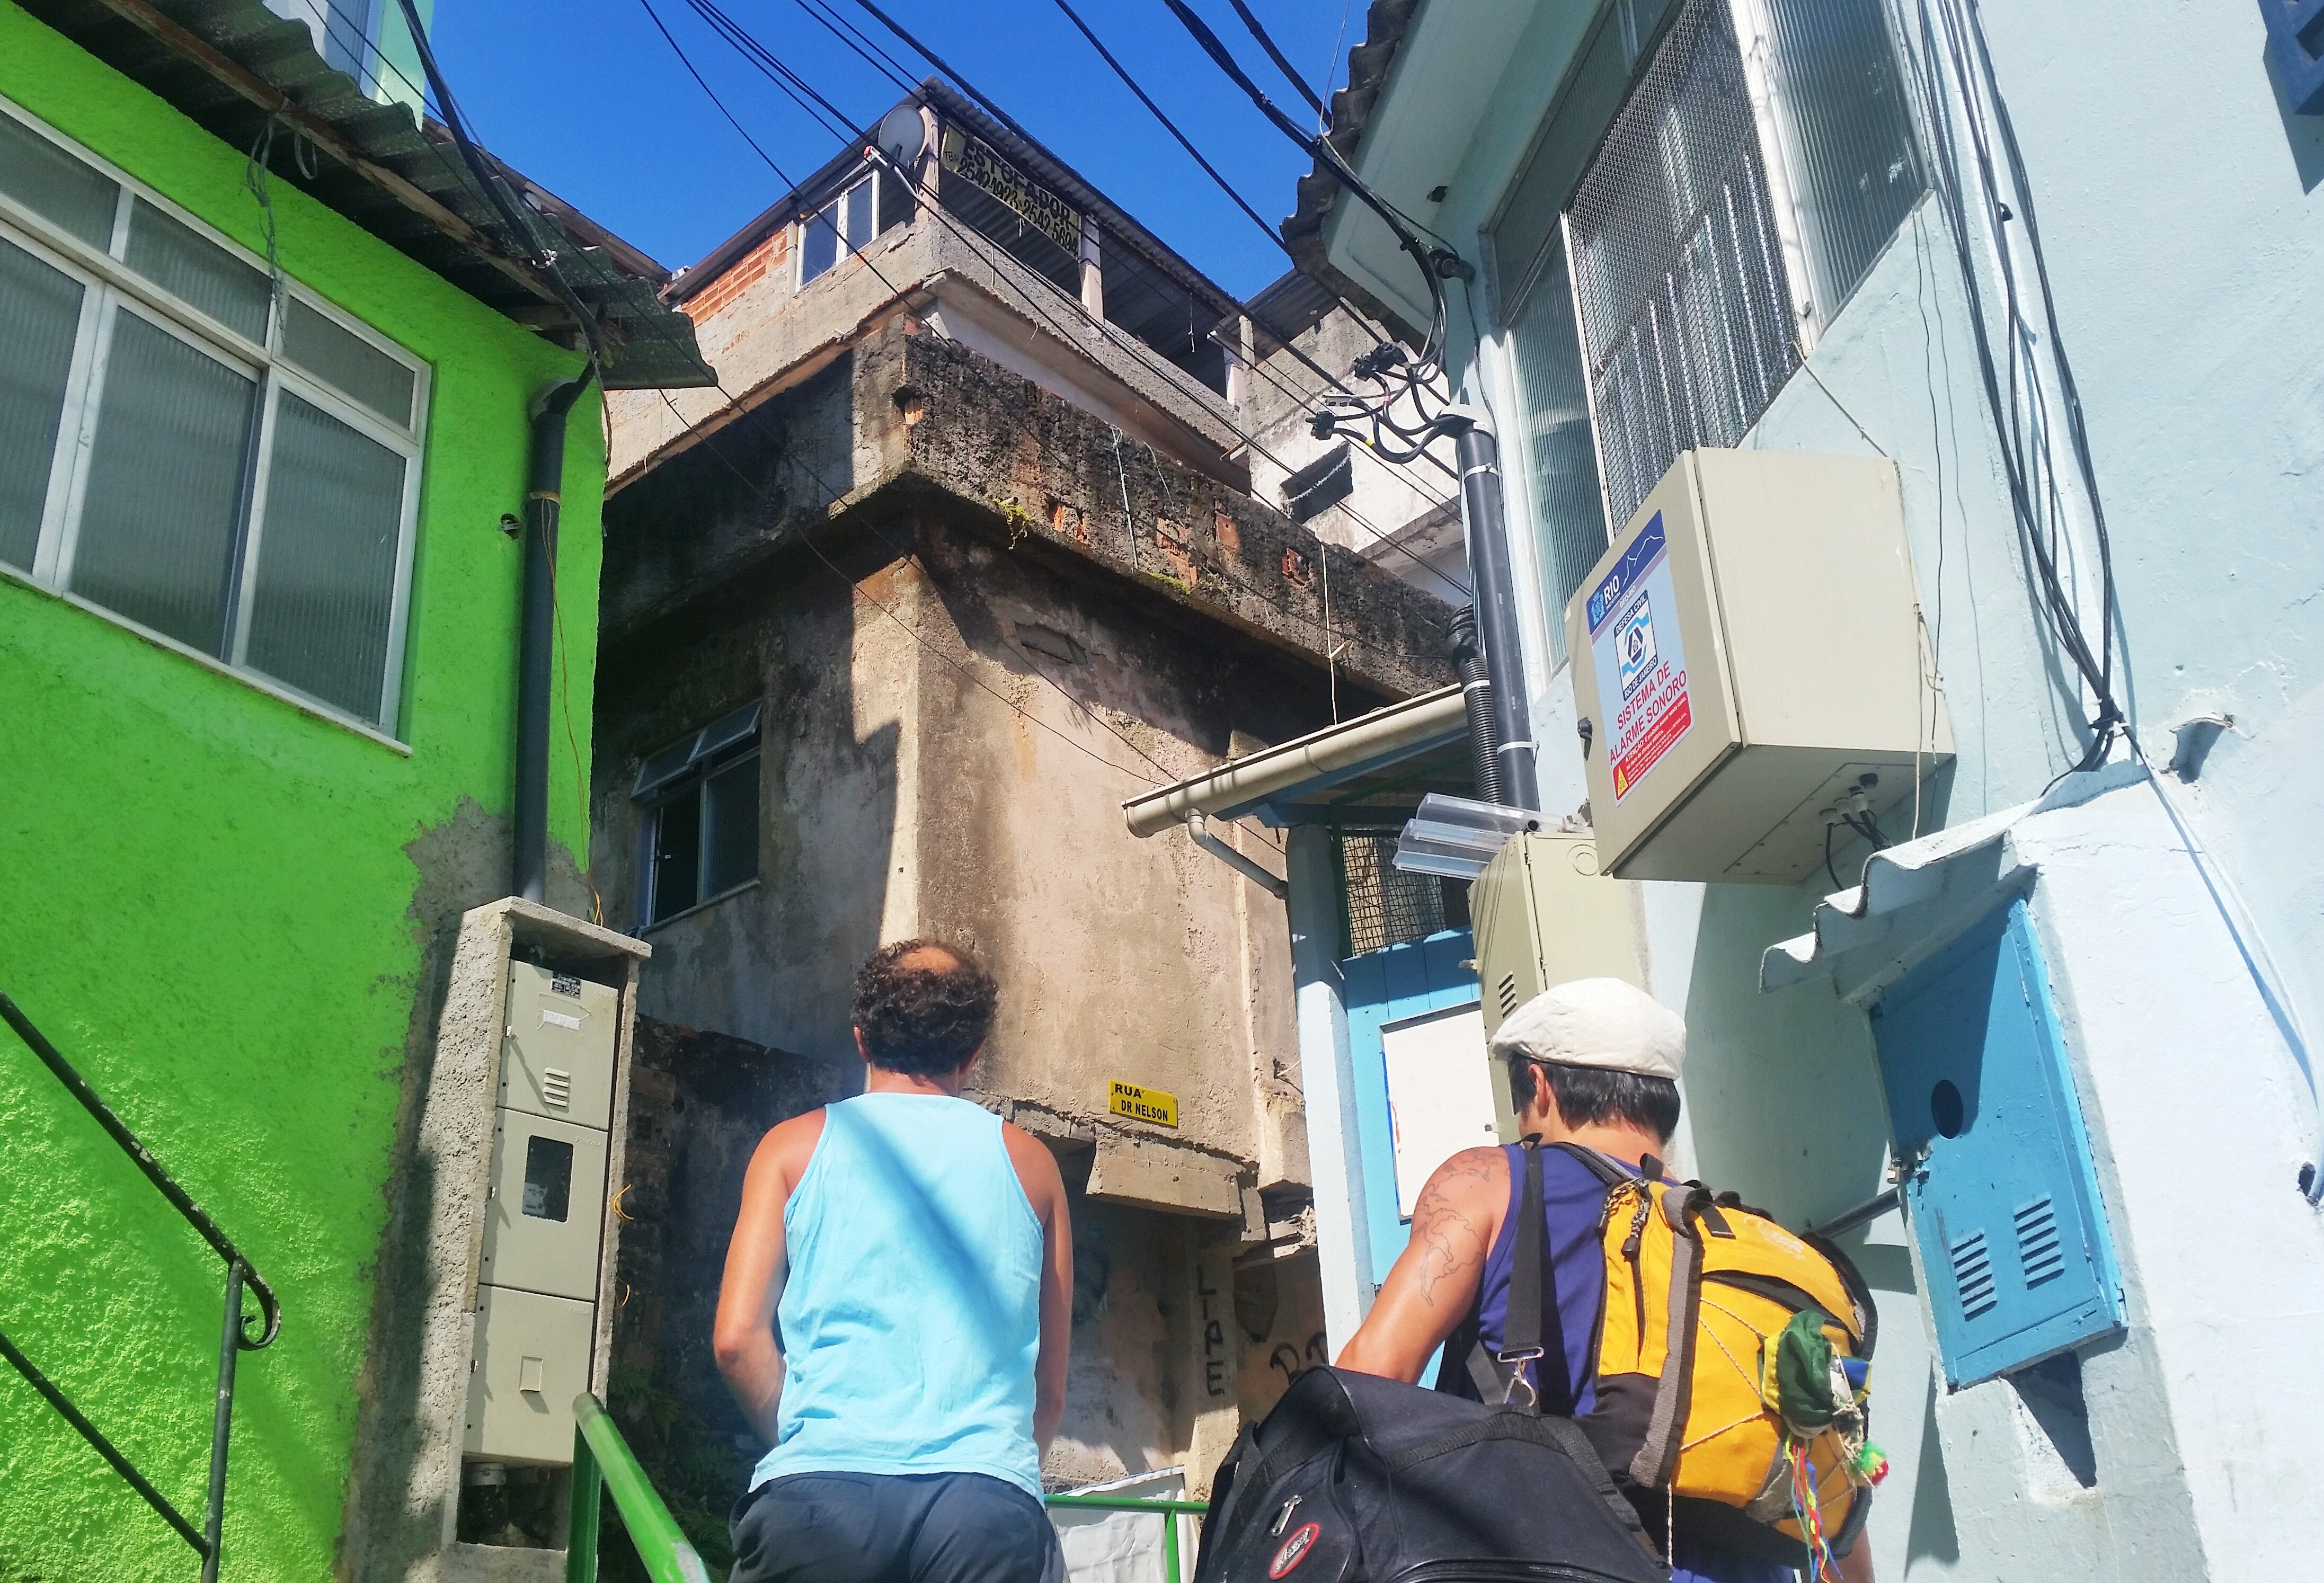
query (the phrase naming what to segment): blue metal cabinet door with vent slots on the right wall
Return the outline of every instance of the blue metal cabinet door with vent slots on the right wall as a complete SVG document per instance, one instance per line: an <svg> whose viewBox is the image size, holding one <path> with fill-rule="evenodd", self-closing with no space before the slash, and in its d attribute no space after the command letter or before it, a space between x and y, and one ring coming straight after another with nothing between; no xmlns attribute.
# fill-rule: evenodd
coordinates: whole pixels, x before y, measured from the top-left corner
<svg viewBox="0 0 2324 1583"><path fill-rule="evenodd" d="M1936 1341L1971 1385L2122 1327L2122 1281L2050 976L2010 902L1873 1011Z"/></svg>

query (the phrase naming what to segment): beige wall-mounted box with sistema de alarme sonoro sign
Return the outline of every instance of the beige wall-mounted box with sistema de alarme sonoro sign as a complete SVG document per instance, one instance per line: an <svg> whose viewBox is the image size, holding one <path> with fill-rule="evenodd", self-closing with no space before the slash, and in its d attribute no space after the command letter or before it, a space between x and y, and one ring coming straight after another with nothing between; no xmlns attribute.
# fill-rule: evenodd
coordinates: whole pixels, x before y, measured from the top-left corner
<svg viewBox="0 0 2324 1583"><path fill-rule="evenodd" d="M1799 883L1843 800L1901 841L1952 758L1882 458L1680 453L1566 602L1566 653L1620 879Z"/></svg>

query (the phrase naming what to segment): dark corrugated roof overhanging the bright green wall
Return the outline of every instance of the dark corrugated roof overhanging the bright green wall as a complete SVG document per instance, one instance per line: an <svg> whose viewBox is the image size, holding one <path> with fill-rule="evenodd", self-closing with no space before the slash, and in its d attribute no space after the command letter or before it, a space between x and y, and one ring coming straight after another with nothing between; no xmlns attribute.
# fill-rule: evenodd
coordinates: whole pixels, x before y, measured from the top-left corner
<svg viewBox="0 0 2324 1583"><path fill-rule="evenodd" d="M258 0L19 0L23 9L153 91L237 151L277 123L270 172L330 205L479 302L544 335L574 337L558 293L511 242L444 128L381 105L323 63L314 35ZM286 132L297 132L290 137ZM295 144L314 151L314 177ZM600 323L614 391L716 384L695 325L660 300L667 272L507 165L567 246L558 267Z"/></svg>

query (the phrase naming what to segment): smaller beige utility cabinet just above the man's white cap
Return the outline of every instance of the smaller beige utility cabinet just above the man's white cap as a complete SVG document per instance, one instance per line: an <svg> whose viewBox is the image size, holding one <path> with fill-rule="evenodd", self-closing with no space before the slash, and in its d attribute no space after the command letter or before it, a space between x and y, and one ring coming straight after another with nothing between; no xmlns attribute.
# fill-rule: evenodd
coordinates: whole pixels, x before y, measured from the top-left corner
<svg viewBox="0 0 2324 1583"><path fill-rule="evenodd" d="M1487 1041L1511 1011L1557 983L1622 979L1643 988L1631 886L1599 874L1590 835L1508 837L1469 881L1469 918ZM1492 1109L1501 1141L1518 1141L1518 1116L1499 1072L1492 1074Z"/></svg>

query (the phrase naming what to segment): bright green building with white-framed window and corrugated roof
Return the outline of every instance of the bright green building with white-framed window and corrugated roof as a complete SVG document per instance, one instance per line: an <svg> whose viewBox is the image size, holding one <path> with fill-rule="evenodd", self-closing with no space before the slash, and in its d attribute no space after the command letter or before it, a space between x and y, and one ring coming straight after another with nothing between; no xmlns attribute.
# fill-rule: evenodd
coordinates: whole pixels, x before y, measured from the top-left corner
<svg viewBox="0 0 2324 1583"><path fill-rule="evenodd" d="M597 393L711 381L651 260L500 172L518 239L414 123L407 35L342 51L363 81L314 37L256 0L0 0L0 990L279 1295L223 1530L223 1576L270 1581L360 1564L451 934L516 888L535 404L602 344L535 651L532 888L588 916ZM195 1525L221 1285L0 1032L0 1332ZM0 1578L198 1571L0 1369Z"/></svg>

